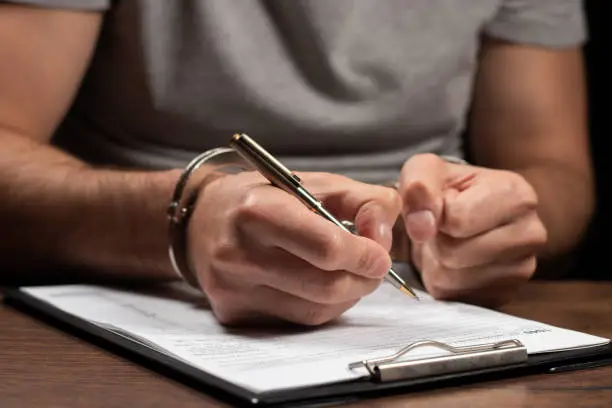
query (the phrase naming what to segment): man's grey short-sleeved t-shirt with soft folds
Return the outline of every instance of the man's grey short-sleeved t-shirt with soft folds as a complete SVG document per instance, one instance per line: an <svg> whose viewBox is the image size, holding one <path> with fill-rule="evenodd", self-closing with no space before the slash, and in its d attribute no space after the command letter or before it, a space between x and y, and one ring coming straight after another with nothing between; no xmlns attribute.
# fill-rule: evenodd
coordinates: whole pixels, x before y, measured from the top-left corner
<svg viewBox="0 0 612 408"><path fill-rule="evenodd" d="M20 2L106 10L57 143L140 168L245 132L296 170L388 181L412 154L462 155L483 34L586 37L579 0Z"/></svg>

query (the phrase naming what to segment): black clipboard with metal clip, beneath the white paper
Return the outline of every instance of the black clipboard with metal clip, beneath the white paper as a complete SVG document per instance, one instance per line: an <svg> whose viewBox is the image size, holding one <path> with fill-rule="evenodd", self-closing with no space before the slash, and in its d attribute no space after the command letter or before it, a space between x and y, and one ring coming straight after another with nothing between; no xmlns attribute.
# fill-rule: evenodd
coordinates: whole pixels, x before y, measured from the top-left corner
<svg viewBox="0 0 612 408"><path fill-rule="evenodd" d="M419 342L406 345L392 356L354 362L354 365L365 367L370 378L254 393L119 333L75 317L18 288L4 288L3 292L5 302L19 310L233 406L330 406L385 395L612 364L612 343L528 356L522 344L515 340L465 348L427 342L427 345L449 351L449 356L401 362L399 358L402 355L426 343Z"/></svg>

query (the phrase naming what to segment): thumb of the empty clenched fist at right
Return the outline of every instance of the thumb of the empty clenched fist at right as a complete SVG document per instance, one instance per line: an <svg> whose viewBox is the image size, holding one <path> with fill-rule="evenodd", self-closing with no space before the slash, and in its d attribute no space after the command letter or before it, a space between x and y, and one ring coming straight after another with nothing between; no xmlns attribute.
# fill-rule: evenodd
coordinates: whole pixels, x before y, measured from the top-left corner
<svg viewBox="0 0 612 408"><path fill-rule="evenodd" d="M434 154L419 154L402 167L399 192L406 233L413 242L435 237L442 216L446 163Z"/></svg>

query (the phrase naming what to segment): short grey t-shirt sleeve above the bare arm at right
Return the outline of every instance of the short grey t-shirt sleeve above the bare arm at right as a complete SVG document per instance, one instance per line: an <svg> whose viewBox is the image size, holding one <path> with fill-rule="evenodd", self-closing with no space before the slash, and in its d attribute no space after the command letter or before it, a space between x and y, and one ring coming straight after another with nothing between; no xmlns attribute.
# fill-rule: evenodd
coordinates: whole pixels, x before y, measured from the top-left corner
<svg viewBox="0 0 612 408"><path fill-rule="evenodd" d="M583 0L502 0L484 33L544 47L581 46L588 37L585 14Z"/></svg>

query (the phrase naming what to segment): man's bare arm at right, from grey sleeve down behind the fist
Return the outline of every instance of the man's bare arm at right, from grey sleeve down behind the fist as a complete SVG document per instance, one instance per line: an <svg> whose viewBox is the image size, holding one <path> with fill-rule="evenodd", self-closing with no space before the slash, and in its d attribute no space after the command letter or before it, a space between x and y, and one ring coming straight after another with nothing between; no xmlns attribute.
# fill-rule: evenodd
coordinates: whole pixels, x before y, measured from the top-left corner
<svg viewBox="0 0 612 408"><path fill-rule="evenodd" d="M579 49L484 42L470 153L476 164L516 171L535 188L548 230L543 260L571 252L593 213L584 79Z"/></svg>

